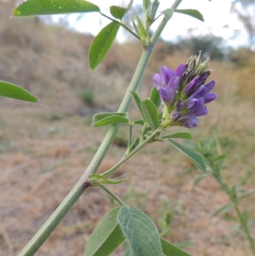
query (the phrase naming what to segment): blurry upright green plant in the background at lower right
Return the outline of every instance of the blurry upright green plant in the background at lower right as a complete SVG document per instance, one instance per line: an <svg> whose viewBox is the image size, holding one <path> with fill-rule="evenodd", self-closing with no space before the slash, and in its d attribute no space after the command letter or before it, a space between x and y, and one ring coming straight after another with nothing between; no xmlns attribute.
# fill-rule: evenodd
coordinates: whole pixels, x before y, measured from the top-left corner
<svg viewBox="0 0 255 256"><path fill-rule="evenodd" d="M226 138L222 140L222 143L225 141ZM198 184L205 177L212 176L220 184L222 192L226 193L230 199L230 203L222 206L220 209L217 209L213 216L219 214L230 215L230 211L235 211L236 214L236 216L231 218L231 220L237 222L237 225L235 225L235 227L232 229L233 234L230 234L230 236L226 237L224 241L227 241L233 236L241 234L247 239L251 247L251 252L253 255L255 255L255 243L251 236L251 227L255 224L255 219L249 220L247 209L240 209L240 202L244 199L247 199L247 197L254 195L255 193L255 191L246 192L243 188L245 182L251 176L251 173L247 172L244 179L240 181L240 184L234 184L231 186L222 176L222 170L226 168L224 166L226 155L221 154L221 140L217 140L215 137L210 137L207 140L202 141L200 145L194 146L194 149L200 152L205 158L207 169L210 174L207 176L198 177L194 184Z"/></svg>

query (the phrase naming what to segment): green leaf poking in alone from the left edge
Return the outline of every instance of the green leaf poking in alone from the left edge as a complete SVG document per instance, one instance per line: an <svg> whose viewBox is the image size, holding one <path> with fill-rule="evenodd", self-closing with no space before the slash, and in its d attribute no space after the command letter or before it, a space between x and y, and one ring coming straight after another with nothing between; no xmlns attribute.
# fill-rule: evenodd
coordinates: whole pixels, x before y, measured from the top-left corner
<svg viewBox="0 0 255 256"><path fill-rule="evenodd" d="M29 93L29 91L23 89L22 87L15 86L15 84L10 84L3 81L0 81L0 96L14 98L17 100L25 100L26 102L38 103L38 98Z"/></svg>

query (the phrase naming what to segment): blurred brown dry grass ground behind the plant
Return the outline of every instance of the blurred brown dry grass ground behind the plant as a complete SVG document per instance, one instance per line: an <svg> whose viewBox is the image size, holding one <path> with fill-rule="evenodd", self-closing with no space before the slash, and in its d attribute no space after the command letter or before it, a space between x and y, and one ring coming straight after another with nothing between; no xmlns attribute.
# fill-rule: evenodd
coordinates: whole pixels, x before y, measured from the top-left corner
<svg viewBox="0 0 255 256"><path fill-rule="evenodd" d="M0 10L4 10L3 4L0 2ZM86 107L80 93L93 88L95 107L116 110L141 52L137 43L115 45L101 67L91 72L87 63L89 36L45 26L34 18L9 20L8 16L0 15L0 78L40 96L43 106L8 98L0 101L1 256L17 255L77 182L103 140L107 128L90 126L92 110L87 107L87 117L78 115ZM152 74L159 72L161 65L175 68L189 57L189 52L166 53L160 42L138 91L143 98L152 87ZM248 67L252 69L251 64ZM212 78L217 80L218 98L210 104L210 114L201 117L200 126L192 131L194 142L213 134L222 137L222 151L228 154L224 176L237 183L255 167L254 98L246 98L250 91L241 95L239 79L245 76L251 82L249 75L254 72L244 74L244 68L214 61L211 68L215 70ZM134 107L130 112L137 117ZM120 137L125 131L122 128ZM124 151L113 145L99 172L112 167ZM173 243L193 241L187 251L198 256L251 255L242 237L220 243L234 223L221 216L212 218L216 209L228 203L214 179L208 177L194 188L200 173L188 174L191 163L168 144L147 146L117 174L137 167L131 182L112 190L143 209L157 224L165 212L173 210L173 231L167 239ZM252 190L254 184L253 175L245 188ZM249 200L254 198L247 199L244 207L252 218L255 207ZM83 255L89 234L114 206L99 189L87 190L37 255Z"/></svg>

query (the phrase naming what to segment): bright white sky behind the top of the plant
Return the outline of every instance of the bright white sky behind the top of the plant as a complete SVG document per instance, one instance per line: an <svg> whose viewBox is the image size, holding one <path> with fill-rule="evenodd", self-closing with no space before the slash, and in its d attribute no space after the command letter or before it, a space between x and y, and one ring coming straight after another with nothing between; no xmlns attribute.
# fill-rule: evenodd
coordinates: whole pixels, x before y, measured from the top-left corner
<svg viewBox="0 0 255 256"><path fill-rule="evenodd" d="M129 1L117 1L117 0L89 0L91 3L97 4L103 13L107 13L108 7L111 5L122 5ZM173 1L171 0L159 0L159 11L163 11L166 8L170 8ZM124 4L123 4L124 3ZM142 3L142 0L135 0L135 4ZM183 0L179 6L179 9L196 9L199 10L205 22L196 20L187 15L182 15L180 13L174 13L172 19L168 22L165 27L162 36L165 40L173 40L178 35L185 36L188 29L197 28L193 34L206 34L212 32L215 36L222 36L226 40L233 38L233 31L239 31L238 38L233 38L230 40L230 44L244 45L247 40L247 34L242 27L242 24L238 22L237 17L230 14L231 0ZM77 16L73 17L73 20ZM100 29L110 21L101 17L98 13L87 13L80 22L71 22L73 28L82 32L89 32L96 35ZM157 26L158 22L153 24L152 29ZM119 41L123 40L122 33L118 34Z"/></svg>

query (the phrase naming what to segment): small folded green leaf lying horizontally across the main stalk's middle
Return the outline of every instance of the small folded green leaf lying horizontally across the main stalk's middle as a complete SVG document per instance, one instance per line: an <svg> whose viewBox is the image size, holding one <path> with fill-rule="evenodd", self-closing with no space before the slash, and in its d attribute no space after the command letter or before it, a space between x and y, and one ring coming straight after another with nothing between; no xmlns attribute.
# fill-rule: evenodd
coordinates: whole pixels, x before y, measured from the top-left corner
<svg viewBox="0 0 255 256"><path fill-rule="evenodd" d="M98 126L104 126L108 124L119 124L119 123L128 123L129 117L128 113L101 113L96 114L93 117L93 123L92 126L98 127Z"/></svg>

